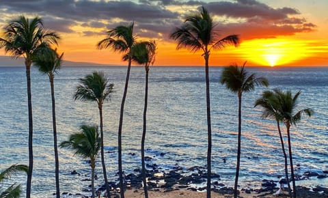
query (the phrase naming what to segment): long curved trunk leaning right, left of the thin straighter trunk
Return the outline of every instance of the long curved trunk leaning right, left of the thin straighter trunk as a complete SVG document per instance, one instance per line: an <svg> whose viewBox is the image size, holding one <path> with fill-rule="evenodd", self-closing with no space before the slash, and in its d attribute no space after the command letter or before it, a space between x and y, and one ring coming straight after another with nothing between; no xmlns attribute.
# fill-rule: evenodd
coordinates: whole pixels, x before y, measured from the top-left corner
<svg viewBox="0 0 328 198"><path fill-rule="evenodd" d="M120 175L121 198L124 198L124 183L123 183L123 171L122 171L122 125L123 125L124 103L126 99L126 94L128 92L128 79L130 78L130 70L131 70L131 58L128 59L128 70L126 71L125 87L124 87L124 93L123 93L121 111L120 111L120 122L118 125L118 174Z"/></svg>

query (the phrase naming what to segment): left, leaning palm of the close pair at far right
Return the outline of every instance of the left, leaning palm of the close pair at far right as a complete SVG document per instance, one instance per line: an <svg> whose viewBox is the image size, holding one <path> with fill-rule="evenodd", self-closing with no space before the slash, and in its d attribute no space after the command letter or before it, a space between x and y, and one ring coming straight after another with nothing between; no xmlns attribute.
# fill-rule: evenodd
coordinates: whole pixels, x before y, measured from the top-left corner
<svg viewBox="0 0 328 198"><path fill-rule="evenodd" d="M279 138L280 138L280 143L282 145L282 152L284 154L284 160L285 160L285 175L286 175L286 182L288 185L288 193L289 197L292 197L292 192L290 188L290 182L288 178L288 162L287 162L287 154L285 150L285 145L284 145L284 139L282 138L282 130L280 129L280 120L279 120L279 112L277 109L279 109L279 100L278 97L276 96L274 91L263 91L261 98L258 98L256 100L254 107L260 106L263 108L263 113L262 113L262 118L267 118L271 117L275 119L277 122L277 129L279 132Z"/></svg>

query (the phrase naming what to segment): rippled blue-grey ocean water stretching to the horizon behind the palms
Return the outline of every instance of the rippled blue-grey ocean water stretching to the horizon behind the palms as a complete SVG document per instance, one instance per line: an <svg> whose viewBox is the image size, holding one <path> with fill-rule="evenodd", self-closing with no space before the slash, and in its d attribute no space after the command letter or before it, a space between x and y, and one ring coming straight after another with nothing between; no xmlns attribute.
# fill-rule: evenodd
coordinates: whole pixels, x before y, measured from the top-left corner
<svg viewBox="0 0 328 198"><path fill-rule="evenodd" d="M210 99L213 130L213 173L221 175L219 182L233 186L236 166L238 104L236 94L219 83L222 68L210 68ZM322 173L328 170L328 68L274 67L247 68L269 79L268 88L256 87L243 94L241 172L243 187L260 187L263 179L278 180L284 175L284 158L275 122L260 117L262 109L254 102L262 91L273 88L301 91L297 109L312 108L312 117L303 117L292 126L292 152L296 174L305 171ZM98 108L94 102L73 100L79 78L93 71L102 71L114 83L115 92L104 104L105 160L109 180L118 182L117 133L120 102L125 83L126 67L63 67L55 75L55 100L58 141L65 141L81 124L98 124ZM126 174L141 168L140 143L142 133L145 71L131 69L131 79L124 109L122 130L123 169ZM205 75L203 67L150 68L146 156L163 171L180 166L189 169L206 166L207 122ZM31 70L33 104L34 168L32 197L51 197L55 193L55 162L50 83L47 75ZM28 165L28 115L26 76L23 67L0 67L0 170L12 164ZM283 133L286 132L282 125ZM226 162L225 162L226 160ZM74 156L71 150L59 148L61 192L81 193L90 181L87 160ZM72 175L71 171L79 175ZM103 184L100 158L96 167ZM26 175L12 177L25 186ZM304 186L328 187L328 179L298 181ZM23 193L24 194L24 193Z"/></svg>

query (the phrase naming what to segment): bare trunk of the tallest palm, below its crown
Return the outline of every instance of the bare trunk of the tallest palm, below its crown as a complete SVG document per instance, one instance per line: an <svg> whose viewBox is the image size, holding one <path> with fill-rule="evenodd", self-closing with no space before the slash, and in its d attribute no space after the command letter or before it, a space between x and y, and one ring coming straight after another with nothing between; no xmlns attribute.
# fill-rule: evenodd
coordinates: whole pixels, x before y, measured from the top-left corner
<svg viewBox="0 0 328 198"><path fill-rule="evenodd" d="M207 186L206 186L206 197L210 198L210 178L211 178L211 154L212 154L212 129L210 126L210 78L208 75L208 59L210 55L206 51L204 54L205 59L205 80L206 80L206 112L207 112L207 138L208 138L208 147L207 147Z"/></svg>

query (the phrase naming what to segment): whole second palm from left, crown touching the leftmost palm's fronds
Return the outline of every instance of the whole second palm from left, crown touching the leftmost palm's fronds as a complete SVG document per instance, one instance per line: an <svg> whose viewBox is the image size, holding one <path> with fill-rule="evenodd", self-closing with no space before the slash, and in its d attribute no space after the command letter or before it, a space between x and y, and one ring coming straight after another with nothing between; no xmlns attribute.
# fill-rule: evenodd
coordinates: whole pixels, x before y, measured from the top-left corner
<svg viewBox="0 0 328 198"><path fill-rule="evenodd" d="M43 74L49 76L50 88L51 88L51 102L53 109L53 148L55 152L55 180L56 180L56 197L60 198L59 190L59 160L58 160L58 149L57 149L57 127L56 127L56 108L55 108L55 87L53 85L53 79L55 78L55 73L61 68L62 57L57 54L51 48L45 48L45 50L40 51L40 54L33 59L33 65L39 68L39 71Z"/></svg>

